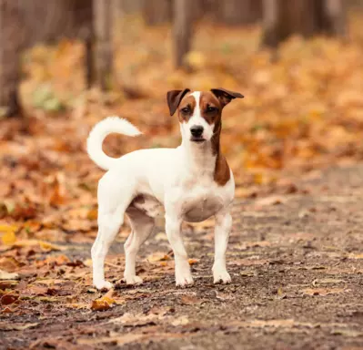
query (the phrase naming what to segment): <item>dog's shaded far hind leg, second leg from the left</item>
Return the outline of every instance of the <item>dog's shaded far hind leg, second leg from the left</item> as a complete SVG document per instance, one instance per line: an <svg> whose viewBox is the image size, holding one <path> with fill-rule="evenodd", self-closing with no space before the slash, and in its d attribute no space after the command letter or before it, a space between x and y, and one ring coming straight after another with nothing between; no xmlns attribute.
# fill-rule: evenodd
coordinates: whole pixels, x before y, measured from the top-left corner
<svg viewBox="0 0 363 350"><path fill-rule="evenodd" d="M146 215L144 211L129 207L126 211L131 224L131 233L125 242L126 266L124 278L127 284L142 283L136 276L136 255L143 242L153 232L155 219Z"/></svg>

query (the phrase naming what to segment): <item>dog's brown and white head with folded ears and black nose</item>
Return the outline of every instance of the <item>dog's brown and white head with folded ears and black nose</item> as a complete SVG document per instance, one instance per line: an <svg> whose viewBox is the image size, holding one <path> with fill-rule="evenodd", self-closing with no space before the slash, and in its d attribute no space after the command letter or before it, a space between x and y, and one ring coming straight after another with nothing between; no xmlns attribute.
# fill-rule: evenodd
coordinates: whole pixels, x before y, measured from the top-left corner
<svg viewBox="0 0 363 350"><path fill-rule="evenodd" d="M177 112L183 139L195 143L209 141L220 131L222 110L234 98L243 95L225 88L206 92L190 92L186 88L168 91L166 95L170 115Z"/></svg>

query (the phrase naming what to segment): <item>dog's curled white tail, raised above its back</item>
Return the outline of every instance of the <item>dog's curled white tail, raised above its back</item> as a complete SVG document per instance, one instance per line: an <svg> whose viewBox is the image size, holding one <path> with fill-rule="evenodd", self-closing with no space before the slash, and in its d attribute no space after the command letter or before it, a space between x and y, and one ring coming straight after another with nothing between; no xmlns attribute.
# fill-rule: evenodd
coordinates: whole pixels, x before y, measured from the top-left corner
<svg viewBox="0 0 363 350"><path fill-rule="evenodd" d="M108 117L96 124L91 130L87 139L87 152L91 160L98 167L109 170L118 160L117 158L108 157L102 149L102 143L108 134L116 132L126 136L137 136L142 134L139 129L132 125L124 118Z"/></svg>

